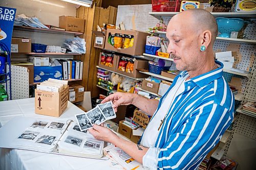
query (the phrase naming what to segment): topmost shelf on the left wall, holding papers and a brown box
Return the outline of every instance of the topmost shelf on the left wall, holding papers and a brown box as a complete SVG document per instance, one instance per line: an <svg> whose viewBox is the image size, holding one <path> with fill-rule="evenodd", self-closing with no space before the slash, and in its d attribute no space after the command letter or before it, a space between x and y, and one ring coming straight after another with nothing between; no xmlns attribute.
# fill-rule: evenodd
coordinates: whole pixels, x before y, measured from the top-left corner
<svg viewBox="0 0 256 170"><path fill-rule="evenodd" d="M51 34L73 34L73 35L82 35L83 34L80 32L73 32L73 31L50 30L50 29L33 28L33 27L26 27L26 26L14 26L13 30L51 33Z"/></svg>

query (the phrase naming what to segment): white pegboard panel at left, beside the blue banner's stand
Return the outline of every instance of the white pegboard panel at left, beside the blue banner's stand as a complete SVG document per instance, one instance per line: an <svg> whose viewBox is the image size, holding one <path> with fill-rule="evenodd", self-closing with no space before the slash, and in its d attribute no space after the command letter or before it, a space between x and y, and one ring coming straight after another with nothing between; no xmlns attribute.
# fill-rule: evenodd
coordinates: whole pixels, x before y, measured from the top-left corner
<svg viewBox="0 0 256 170"><path fill-rule="evenodd" d="M29 72L27 67L11 65L12 100L29 98Z"/></svg>

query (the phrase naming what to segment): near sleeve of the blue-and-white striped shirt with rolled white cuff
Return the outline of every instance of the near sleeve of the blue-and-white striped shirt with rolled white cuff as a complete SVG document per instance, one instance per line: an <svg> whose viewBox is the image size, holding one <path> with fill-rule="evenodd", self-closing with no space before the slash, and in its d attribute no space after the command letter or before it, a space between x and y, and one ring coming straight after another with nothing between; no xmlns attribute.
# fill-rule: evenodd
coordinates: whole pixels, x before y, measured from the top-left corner
<svg viewBox="0 0 256 170"><path fill-rule="evenodd" d="M196 169L219 142L232 119L232 109L214 103L200 106L182 125L177 125L176 132L169 130L163 147L147 151L143 165L152 169Z"/></svg>

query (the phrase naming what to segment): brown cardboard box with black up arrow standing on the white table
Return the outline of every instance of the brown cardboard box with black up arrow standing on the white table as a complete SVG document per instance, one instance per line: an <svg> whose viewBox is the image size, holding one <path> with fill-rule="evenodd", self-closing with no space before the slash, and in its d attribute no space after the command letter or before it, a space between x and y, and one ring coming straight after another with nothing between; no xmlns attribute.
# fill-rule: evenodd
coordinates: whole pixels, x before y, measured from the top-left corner
<svg viewBox="0 0 256 170"><path fill-rule="evenodd" d="M69 87L60 92L35 89L35 113L59 117L68 107Z"/></svg>

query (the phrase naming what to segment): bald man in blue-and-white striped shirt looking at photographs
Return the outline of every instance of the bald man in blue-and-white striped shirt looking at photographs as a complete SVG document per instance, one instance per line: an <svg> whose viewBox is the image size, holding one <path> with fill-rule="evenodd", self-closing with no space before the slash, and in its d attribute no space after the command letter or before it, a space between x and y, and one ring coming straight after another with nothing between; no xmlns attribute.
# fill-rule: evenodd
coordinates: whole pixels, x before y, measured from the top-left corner
<svg viewBox="0 0 256 170"><path fill-rule="evenodd" d="M152 115L140 145L120 139L109 129L94 125L97 139L111 142L150 169L197 169L219 142L233 118L234 99L214 61L218 27L214 16L190 9L170 19L168 53L182 70L160 101L131 93L115 93L102 101L133 104Z"/></svg>

